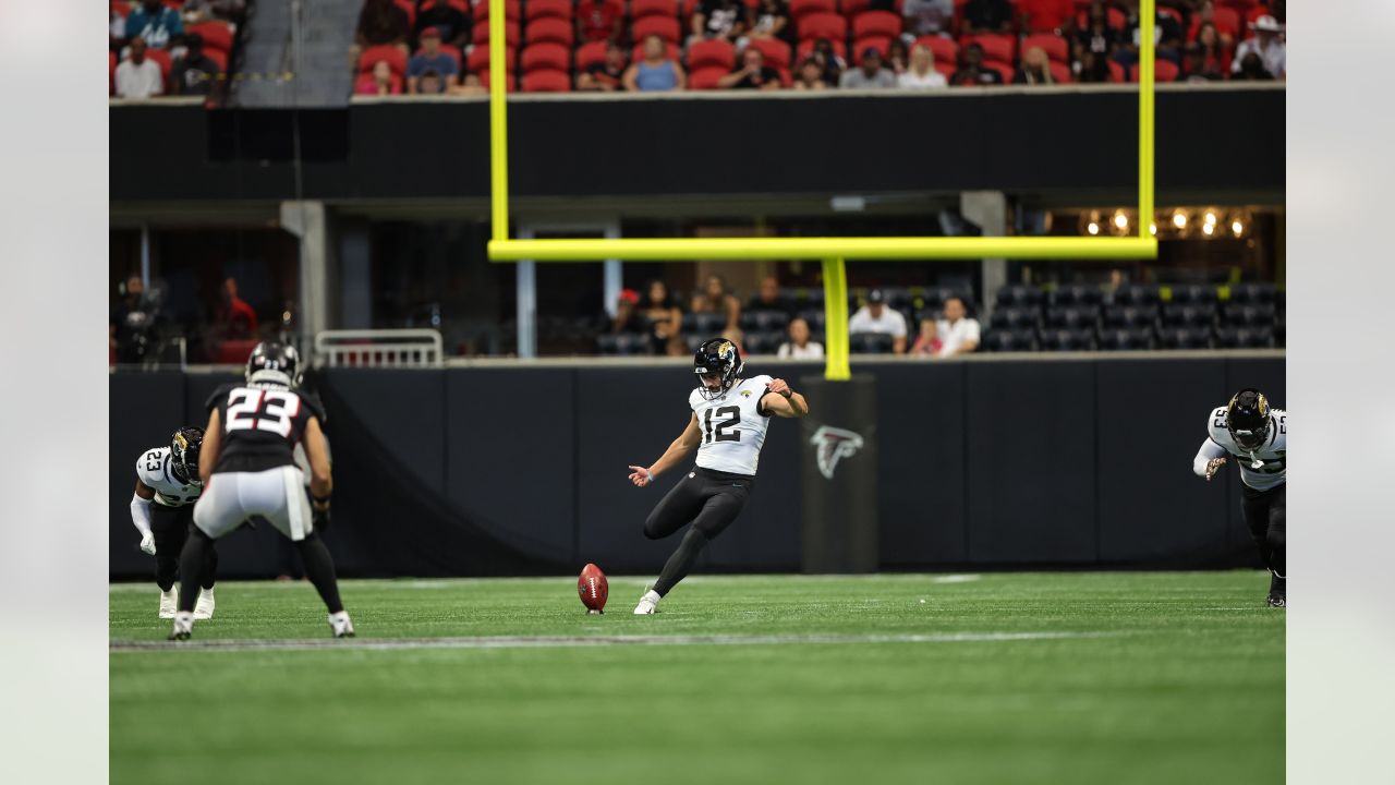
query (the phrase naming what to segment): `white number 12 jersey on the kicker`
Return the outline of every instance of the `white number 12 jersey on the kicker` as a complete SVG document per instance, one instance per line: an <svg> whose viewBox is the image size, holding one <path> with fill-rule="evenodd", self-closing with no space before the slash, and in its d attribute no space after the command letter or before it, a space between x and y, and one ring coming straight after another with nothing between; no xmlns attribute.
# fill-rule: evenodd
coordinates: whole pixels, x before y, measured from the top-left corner
<svg viewBox="0 0 1395 785"><path fill-rule="evenodd" d="M755 475L760 446L766 443L770 415L759 412L760 398L770 386L769 376L738 380L723 395L709 401L703 388L688 395L688 405L698 415L702 441L698 465L717 472Z"/></svg>

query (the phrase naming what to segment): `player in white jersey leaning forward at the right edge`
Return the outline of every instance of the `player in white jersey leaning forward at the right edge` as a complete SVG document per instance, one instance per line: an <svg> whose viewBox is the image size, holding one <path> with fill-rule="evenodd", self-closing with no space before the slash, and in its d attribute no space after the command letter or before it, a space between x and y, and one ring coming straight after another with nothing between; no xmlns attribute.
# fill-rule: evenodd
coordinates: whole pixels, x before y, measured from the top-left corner
<svg viewBox="0 0 1395 785"><path fill-rule="evenodd" d="M1250 536L1269 567L1272 608L1288 605L1283 566L1283 457L1288 451L1288 413L1271 409L1254 388L1244 388L1207 419L1209 437L1191 461L1191 471L1209 480L1228 457L1240 464L1240 508Z"/></svg>

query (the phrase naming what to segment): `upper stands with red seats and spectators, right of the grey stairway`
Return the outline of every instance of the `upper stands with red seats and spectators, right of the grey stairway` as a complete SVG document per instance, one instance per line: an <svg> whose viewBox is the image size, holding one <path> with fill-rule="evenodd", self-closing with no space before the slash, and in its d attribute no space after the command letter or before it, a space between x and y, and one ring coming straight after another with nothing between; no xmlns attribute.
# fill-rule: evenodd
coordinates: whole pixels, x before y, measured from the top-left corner
<svg viewBox="0 0 1395 785"><path fill-rule="evenodd" d="M1282 80L1285 0L1156 0L1158 81ZM1138 78L1138 0L505 0L508 89ZM487 0L365 0L356 92L488 88Z"/></svg>

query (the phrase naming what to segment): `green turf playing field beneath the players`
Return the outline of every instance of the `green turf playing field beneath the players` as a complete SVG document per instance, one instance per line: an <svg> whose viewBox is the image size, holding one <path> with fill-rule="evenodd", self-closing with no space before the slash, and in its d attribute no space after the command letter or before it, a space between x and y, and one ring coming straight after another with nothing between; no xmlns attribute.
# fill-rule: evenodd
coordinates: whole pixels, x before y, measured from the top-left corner
<svg viewBox="0 0 1395 785"><path fill-rule="evenodd" d="M699 575L636 617L640 578L611 578L604 616L575 578L346 581L359 638L332 641L308 584L225 582L195 645L148 651L128 644L169 631L156 589L114 585L110 774L1282 782L1267 587L1251 571Z"/></svg>

